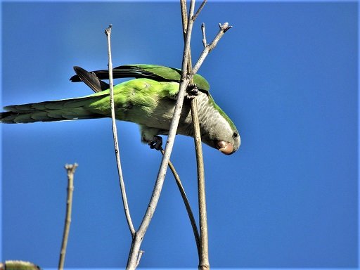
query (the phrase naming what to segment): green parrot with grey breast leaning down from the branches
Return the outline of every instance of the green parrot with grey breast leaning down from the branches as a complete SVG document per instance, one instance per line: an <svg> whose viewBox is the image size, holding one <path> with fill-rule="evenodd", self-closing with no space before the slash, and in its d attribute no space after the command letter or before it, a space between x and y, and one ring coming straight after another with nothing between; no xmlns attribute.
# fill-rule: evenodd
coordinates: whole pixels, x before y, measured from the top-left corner
<svg viewBox="0 0 360 270"><path fill-rule="evenodd" d="M77 75L72 82L84 82L95 94L79 98L44 101L23 105L9 105L0 113L6 124L52 122L110 117L108 70L86 70L74 67ZM114 86L115 117L117 120L139 124L141 141L160 149L172 121L179 91L181 70L160 65L122 65L113 69L113 77L135 78ZM184 101L177 134L193 136L191 105L188 99L197 96L200 133L203 143L230 155L240 146L240 134L230 118L214 102L210 86L200 75L193 77Z"/></svg>

